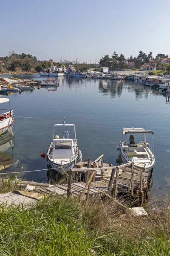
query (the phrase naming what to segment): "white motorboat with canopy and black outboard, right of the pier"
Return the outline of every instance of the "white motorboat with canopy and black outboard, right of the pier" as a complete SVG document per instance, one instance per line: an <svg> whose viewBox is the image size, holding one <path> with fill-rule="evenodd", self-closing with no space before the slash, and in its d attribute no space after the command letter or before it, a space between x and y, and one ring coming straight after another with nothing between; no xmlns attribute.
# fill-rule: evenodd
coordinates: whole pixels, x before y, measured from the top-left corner
<svg viewBox="0 0 170 256"><path fill-rule="evenodd" d="M130 134L129 143L126 141L127 134ZM133 134L142 134L144 141L136 143ZM146 141L146 134L152 134L151 149L149 148L149 143ZM120 151L123 163L131 163L133 161L134 166L142 167L145 171L149 172L155 164L155 157L152 152L153 134L153 131L145 131L143 128L122 129L122 141L117 146L117 150ZM123 140L124 135L125 140Z"/></svg>

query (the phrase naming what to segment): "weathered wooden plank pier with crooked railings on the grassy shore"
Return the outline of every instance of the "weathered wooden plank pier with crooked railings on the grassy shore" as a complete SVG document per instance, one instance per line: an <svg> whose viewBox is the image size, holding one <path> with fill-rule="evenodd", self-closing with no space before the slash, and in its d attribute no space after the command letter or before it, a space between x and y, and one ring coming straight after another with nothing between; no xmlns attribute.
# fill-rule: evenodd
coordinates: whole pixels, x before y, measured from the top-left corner
<svg viewBox="0 0 170 256"><path fill-rule="evenodd" d="M97 195L116 199L123 194L130 195L131 200L133 198L133 201L137 200L141 205L150 198L153 169L146 173L144 169L133 166L133 163L113 166L103 163L103 159L104 155L101 155L94 162L88 159L76 163L75 168L67 174L65 184L51 185L17 180L17 185L22 186L25 191L15 190L0 194L0 204L22 204L23 207L30 207L37 200L51 194L77 197L79 200L88 200Z"/></svg>

